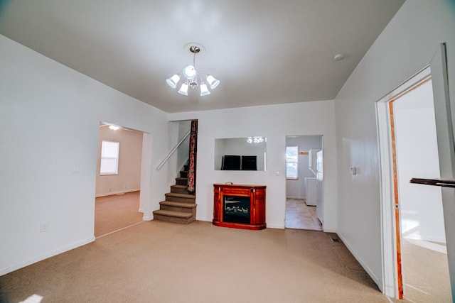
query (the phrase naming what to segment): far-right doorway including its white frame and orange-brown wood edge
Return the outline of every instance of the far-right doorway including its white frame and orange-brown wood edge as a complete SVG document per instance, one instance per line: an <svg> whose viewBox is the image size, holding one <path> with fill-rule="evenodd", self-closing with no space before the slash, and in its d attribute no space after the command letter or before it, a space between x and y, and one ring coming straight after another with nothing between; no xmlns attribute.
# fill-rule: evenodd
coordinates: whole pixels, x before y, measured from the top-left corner
<svg viewBox="0 0 455 303"><path fill-rule="evenodd" d="M444 237L450 235L447 226L451 226L451 222L447 218L453 212L453 199L447 198L453 196L453 189L429 189L422 184L410 184L409 180L410 174L412 180L450 177L449 172L453 169L451 157L447 156L453 155L453 150L447 148L453 147L450 145L453 138L442 136L451 131L448 123L451 118L446 111L448 99L444 93L446 73L442 67L446 63L443 53L445 48L441 47L441 53L434 55L432 70L425 68L376 104L382 196L383 292L400 299L412 297L417 302L451 301L451 260L446 254L446 250L451 251L451 240L447 236L447 243L444 243ZM434 89L434 92L429 89ZM426 100L428 103L419 101L424 95L429 98ZM410 99L410 103L406 103L405 99ZM416 102L421 104L415 106ZM429 109L428 104L434 107ZM434 119L435 116L440 119ZM429 126L430 120L432 126ZM411 140L411 137L414 139ZM434 141L437 141L437 146ZM433 143L431 148L430 143ZM420 151L422 155L419 155ZM436 164L435 158L439 158ZM430 162L436 165L436 170L429 169ZM416 191L422 192L416 197ZM435 192L439 192L442 199L437 194L435 196ZM417 202L420 199L423 201ZM432 204L429 206L429 203ZM424 252L427 256L423 255ZM437 259L439 263L432 264ZM428 280L412 282L418 281L414 278L429 277L437 268L442 268L437 272L437 278L443 279L436 284L432 285ZM412 270L416 272L414 277ZM442 288L438 288L440 286Z"/></svg>

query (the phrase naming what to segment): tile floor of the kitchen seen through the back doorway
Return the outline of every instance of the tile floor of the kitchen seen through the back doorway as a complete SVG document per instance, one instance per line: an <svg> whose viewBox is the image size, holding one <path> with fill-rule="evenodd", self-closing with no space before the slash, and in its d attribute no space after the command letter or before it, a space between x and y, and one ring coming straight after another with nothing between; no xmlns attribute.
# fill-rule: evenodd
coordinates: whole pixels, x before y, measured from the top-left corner
<svg viewBox="0 0 455 303"><path fill-rule="evenodd" d="M308 206L305 199L286 199L286 228L322 231L316 216L316 206Z"/></svg>

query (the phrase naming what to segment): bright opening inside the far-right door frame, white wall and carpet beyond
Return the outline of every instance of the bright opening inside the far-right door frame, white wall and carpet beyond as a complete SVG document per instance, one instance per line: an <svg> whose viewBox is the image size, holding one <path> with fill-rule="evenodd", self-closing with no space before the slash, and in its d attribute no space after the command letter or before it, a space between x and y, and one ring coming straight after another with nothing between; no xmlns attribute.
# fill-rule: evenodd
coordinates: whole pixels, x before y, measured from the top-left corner
<svg viewBox="0 0 455 303"><path fill-rule="evenodd" d="M412 177L440 177L431 77L392 99L390 116L403 297L414 302L449 302L441 189L409 182Z"/></svg>

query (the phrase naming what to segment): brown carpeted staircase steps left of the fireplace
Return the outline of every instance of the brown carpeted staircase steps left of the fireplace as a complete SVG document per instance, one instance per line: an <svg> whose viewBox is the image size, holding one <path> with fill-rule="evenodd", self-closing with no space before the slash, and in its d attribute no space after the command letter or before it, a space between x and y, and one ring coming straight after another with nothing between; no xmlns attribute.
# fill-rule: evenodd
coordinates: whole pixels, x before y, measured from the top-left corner
<svg viewBox="0 0 455 303"><path fill-rule="evenodd" d="M154 211L154 220L188 224L196 220L196 196L186 190L188 165L171 185L171 192L165 194L166 200L159 202L159 210Z"/></svg>

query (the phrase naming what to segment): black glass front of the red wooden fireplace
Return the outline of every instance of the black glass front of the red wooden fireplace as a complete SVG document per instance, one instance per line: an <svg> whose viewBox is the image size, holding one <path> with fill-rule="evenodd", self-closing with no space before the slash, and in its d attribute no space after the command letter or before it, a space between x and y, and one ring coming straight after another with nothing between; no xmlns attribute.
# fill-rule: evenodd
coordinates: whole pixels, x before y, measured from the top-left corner
<svg viewBox="0 0 455 303"><path fill-rule="evenodd" d="M225 196L223 221L250 224L250 197Z"/></svg>

